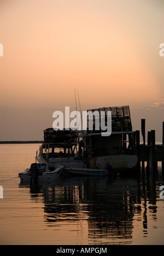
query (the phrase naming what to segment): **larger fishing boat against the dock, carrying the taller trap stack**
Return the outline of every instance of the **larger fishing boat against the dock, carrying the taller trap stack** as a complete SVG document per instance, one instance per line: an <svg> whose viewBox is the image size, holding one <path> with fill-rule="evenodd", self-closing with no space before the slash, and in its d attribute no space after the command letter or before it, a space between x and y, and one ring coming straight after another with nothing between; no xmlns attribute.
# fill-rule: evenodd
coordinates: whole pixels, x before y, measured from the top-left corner
<svg viewBox="0 0 164 256"><path fill-rule="evenodd" d="M132 131L129 106L90 109L87 112L99 114L112 112L112 131L110 136L102 136L101 127L96 129L93 115L93 130L81 131L83 158L86 168L105 170L107 164L115 172L132 171L137 167L138 156L135 151L135 133Z"/></svg>

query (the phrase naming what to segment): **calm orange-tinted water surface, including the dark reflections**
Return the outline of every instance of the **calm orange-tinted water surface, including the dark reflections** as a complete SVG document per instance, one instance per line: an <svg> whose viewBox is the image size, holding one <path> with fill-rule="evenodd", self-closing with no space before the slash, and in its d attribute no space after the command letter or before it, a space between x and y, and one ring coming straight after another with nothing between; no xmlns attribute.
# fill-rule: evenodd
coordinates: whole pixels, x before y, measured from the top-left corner
<svg viewBox="0 0 164 256"><path fill-rule="evenodd" d="M161 167L108 178L20 183L39 144L0 145L1 245L164 245Z"/></svg>

